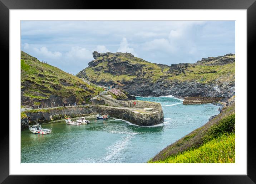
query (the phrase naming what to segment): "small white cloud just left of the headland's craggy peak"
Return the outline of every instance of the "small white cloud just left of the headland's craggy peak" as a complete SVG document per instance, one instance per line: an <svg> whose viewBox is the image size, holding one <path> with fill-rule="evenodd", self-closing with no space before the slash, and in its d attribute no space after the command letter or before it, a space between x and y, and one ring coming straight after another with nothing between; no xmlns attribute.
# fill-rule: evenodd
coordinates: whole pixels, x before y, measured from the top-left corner
<svg viewBox="0 0 256 184"><path fill-rule="evenodd" d="M91 59L92 58L92 52L87 50L86 48L82 47L72 47L69 52L66 53L66 55L70 58L78 58L78 59Z"/></svg>

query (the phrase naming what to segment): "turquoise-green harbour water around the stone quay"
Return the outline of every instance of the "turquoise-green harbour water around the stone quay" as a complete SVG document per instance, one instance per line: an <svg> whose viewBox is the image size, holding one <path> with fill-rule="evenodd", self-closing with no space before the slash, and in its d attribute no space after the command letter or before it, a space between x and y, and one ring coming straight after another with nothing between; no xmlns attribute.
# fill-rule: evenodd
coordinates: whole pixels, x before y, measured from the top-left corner
<svg viewBox="0 0 256 184"><path fill-rule="evenodd" d="M88 118L90 124L44 124L48 135L21 131L21 163L146 163L163 148L219 113L213 104L183 105L172 97L138 97L160 102L164 123L139 127L129 122Z"/></svg>

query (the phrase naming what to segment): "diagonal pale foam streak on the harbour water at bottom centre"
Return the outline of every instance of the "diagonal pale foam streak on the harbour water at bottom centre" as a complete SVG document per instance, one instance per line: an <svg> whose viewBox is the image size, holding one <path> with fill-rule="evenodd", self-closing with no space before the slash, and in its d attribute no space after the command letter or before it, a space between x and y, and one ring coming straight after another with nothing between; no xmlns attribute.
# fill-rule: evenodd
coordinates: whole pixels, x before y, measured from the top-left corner
<svg viewBox="0 0 256 184"><path fill-rule="evenodd" d="M119 152L124 149L125 147L127 147L128 142L130 141L130 139L134 136L135 134L131 134L127 137L125 137L125 139L123 140L119 140L118 142L116 142L113 145L110 145L108 148L109 153L107 154L107 156L104 158L105 161L108 161L109 159L113 158L115 155L119 154Z"/></svg>

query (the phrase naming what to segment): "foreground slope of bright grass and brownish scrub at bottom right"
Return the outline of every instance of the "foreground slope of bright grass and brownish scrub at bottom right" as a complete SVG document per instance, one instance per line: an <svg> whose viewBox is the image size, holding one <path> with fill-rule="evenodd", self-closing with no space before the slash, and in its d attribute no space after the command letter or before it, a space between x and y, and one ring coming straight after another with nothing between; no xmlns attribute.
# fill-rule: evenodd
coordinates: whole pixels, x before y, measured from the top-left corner
<svg viewBox="0 0 256 184"><path fill-rule="evenodd" d="M204 126L163 149L149 163L235 162L234 133L235 103L223 108Z"/></svg>

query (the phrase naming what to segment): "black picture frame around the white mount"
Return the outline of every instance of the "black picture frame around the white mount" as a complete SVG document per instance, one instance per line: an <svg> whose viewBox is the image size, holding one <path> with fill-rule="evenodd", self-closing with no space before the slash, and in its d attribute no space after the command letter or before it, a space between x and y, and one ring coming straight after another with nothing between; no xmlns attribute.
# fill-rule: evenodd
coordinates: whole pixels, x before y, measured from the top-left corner
<svg viewBox="0 0 256 184"><path fill-rule="evenodd" d="M247 60L253 62L253 45L256 35L256 0L130 0L122 4L121 1L85 1L85 0L0 0L0 43L1 56L9 61L9 10L11 9L246 9L247 10ZM245 63L248 61L245 61ZM9 70L8 70L9 71ZM247 72L248 73L248 72ZM248 82L247 82L248 84ZM10 85L10 84L9 84ZM9 96L9 99L11 96ZM10 107L11 108L11 107ZM247 107L245 107L247 108ZM255 183L256 182L256 144L253 137L253 123L247 123L247 175L189 175L168 176L175 179L187 180L189 183ZM55 176L40 176L44 180L37 180L38 176L9 175L9 124L3 123L1 132L0 151L0 182L3 183L46 183L53 181ZM78 177L78 176L74 176ZM88 178L88 176L85 176ZM109 177L109 176L108 176ZM126 176L127 177L127 176ZM80 178L80 177L79 177ZM147 177L148 182L152 177ZM66 177L58 177L63 182ZM91 177L87 180L92 179ZM77 180L77 179L76 179ZM147 181L148 180L148 181ZM169 179L168 179L169 180ZM77 180L78 181L78 180ZM114 182L111 180L112 183ZM133 182L131 177L124 182ZM122 183L124 183L122 182Z"/></svg>

